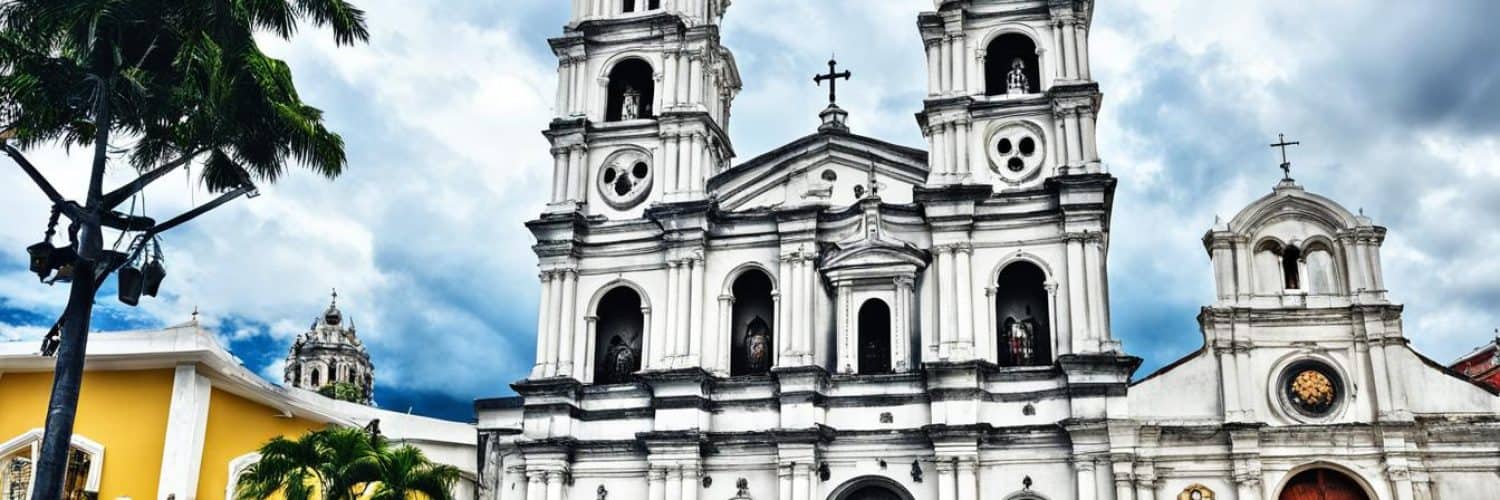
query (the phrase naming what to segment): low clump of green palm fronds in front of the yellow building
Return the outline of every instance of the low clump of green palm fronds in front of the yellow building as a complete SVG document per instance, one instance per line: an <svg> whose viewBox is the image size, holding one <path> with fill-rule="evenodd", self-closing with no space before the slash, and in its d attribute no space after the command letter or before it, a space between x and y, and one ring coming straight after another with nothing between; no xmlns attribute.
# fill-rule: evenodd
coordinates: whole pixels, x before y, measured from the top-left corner
<svg viewBox="0 0 1500 500"><path fill-rule="evenodd" d="M261 461L237 479L237 500L282 492L286 500L452 500L459 470L420 449L390 444L354 428L327 428L297 440L274 437Z"/></svg>

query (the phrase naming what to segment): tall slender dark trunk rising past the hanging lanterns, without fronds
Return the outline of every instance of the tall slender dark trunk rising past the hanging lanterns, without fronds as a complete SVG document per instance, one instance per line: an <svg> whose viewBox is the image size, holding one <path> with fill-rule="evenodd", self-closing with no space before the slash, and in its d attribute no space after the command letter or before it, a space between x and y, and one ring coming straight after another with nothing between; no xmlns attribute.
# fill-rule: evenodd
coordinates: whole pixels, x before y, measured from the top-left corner
<svg viewBox="0 0 1500 500"><path fill-rule="evenodd" d="M57 350L57 368L52 371L52 395L46 405L46 428L42 431L42 453L36 461L36 485L32 500L60 500L63 497L63 473L68 470L68 447L74 440L74 417L78 414L78 392L82 389L84 357L88 347L88 321L93 317L94 281L102 278L96 266L104 251L104 233L99 228L99 207L104 198L104 167L110 149L110 96L114 69L105 41L94 48L94 68L99 71L98 113L94 113L94 158L88 176L88 198L80 225L78 261L74 264L74 284L63 311L62 345Z"/></svg>

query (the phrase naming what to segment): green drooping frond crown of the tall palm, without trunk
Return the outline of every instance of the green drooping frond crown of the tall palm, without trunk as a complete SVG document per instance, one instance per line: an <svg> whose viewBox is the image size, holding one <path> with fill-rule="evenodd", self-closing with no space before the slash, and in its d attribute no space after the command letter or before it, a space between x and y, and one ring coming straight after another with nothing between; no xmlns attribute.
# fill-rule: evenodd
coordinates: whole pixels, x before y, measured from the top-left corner
<svg viewBox="0 0 1500 500"><path fill-rule="evenodd" d="M290 38L298 21L340 45L369 38L344 0L9 0L0 3L0 131L21 147L129 140L141 171L198 161L214 191L274 182L285 164L333 177L344 140L297 95L286 63L256 32Z"/></svg>

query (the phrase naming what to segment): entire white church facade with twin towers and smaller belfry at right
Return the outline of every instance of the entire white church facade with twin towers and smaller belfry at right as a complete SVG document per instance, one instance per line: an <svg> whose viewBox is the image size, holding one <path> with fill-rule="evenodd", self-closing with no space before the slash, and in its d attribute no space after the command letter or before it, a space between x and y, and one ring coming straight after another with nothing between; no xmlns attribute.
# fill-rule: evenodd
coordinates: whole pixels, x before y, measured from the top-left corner
<svg viewBox="0 0 1500 500"><path fill-rule="evenodd" d="M746 161L729 3L573 0L550 41L537 360L476 402L482 498L1500 491L1500 396L1408 347L1386 230L1290 179L1206 233L1204 347L1136 374L1092 2L920 14L927 150L854 134L831 93Z"/></svg>

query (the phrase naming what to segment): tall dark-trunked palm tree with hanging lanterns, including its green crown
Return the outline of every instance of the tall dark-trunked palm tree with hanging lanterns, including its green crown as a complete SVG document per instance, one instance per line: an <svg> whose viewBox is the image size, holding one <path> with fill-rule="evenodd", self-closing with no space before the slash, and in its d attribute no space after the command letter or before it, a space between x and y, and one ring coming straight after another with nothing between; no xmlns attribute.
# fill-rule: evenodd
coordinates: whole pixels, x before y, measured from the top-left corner
<svg viewBox="0 0 1500 500"><path fill-rule="evenodd" d="M93 297L122 266L104 251L102 227L154 237L252 194L256 180L274 182L288 162L328 177L344 170L342 138L324 128L320 110L302 102L288 66L255 44L256 32L285 39L302 21L328 27L340 45L369 38L363 12L345 0L0 3L0 137L21 149L45 143L93 149L86 198L74 203L10 144L0 144L51 198L54 221L72 219L68 249L76 255L66 264L78 279L52 329L60 347L32 498L60 494ZM105 192L111 150L128 152L141 176ZM162 224L114 212L152 182L195 162L219 198Z"/></svg>

